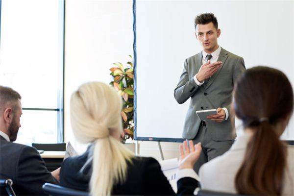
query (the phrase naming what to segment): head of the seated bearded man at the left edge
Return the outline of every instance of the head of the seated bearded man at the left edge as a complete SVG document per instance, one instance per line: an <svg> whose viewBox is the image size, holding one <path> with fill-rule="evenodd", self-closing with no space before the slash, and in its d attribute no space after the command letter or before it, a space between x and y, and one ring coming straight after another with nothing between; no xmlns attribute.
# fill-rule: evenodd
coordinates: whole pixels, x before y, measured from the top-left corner
<svg viewBox="0 0 294 196"><path fill-rule="evenodd" d="M14 142L21 127L22 104L20 94L9 87L0 86L0 114L0 130Z"/></svg>

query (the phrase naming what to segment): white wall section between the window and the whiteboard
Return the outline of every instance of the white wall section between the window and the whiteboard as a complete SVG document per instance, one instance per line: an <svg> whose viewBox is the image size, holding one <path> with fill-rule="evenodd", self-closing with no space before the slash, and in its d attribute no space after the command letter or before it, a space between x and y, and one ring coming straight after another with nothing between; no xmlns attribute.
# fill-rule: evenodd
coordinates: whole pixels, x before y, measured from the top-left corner
<svg viewBox="0 0 294 196"><path fill-rule="evenodd" d="M133 55L132 0L67 0L65 13L65 141L83 151L70 125L70 96L82 83L109 83L112 64Z"/></svg>

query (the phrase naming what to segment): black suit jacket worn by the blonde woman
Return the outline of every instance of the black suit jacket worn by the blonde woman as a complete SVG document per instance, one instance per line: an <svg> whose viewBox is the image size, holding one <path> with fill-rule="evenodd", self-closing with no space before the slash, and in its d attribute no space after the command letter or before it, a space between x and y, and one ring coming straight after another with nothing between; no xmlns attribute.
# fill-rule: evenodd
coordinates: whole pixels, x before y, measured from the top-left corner
<svg viewBox="0 0 294 196"><path fill-rule="evenodd" d="M60 185L89 191L91 166L83 172L81 168L88 158L88 150L76 157L67 158L60 171ZM185 177L178 180L178 194L193 195L197 187L196 179ZM172 187L153 158L134 157L128 164L126 181L113 187L112 195L175 195Z"/></svg>

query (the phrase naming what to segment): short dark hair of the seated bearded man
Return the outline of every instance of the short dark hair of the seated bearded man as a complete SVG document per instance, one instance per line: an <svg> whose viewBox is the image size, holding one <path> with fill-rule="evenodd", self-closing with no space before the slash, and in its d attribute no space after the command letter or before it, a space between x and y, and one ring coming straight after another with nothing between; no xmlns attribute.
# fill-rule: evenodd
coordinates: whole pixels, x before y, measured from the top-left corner
<svg viewBox="0 0 294 196"><path fill-rule="evenodd" d="M12 88L0 86L0 109L8 102L17 102L22 99L21 95Z"/></svg>

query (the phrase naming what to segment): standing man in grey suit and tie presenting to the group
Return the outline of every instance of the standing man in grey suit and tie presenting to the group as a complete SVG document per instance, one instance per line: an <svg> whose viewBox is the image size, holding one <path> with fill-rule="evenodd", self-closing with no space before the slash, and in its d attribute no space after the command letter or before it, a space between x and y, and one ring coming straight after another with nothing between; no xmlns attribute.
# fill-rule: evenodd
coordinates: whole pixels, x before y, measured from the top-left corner
<svg viewBox="0 0 294 196"><path fill-rule="evenodd" d="M198 15L195 29L203 50L185 60L174 98L180 104L191 98L183 138L201 142L202 153L194 166L198 172L202 164L223 154L233 143L230 104L234 83L245 71L245 64L242 57L218 45L221 29L212 13ZM218 114L201 121L196 111L207 109L217 109Z"/></svg>

